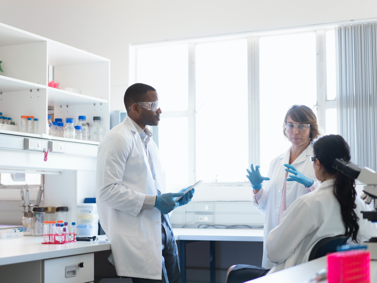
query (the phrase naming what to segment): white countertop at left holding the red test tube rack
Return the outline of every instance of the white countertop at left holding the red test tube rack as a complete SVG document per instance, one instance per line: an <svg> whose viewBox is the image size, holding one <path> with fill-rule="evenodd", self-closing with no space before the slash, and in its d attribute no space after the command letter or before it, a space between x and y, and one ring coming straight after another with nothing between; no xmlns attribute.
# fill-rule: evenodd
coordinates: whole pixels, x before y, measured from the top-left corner
<svg viewBox="0 0 377 283"><path fill-rule="evenodd" d="M109 250L110 242L105 240L106 235L98 238L98 241L62 245L42 244L43 236L0 239L0 265Z"/></svg>

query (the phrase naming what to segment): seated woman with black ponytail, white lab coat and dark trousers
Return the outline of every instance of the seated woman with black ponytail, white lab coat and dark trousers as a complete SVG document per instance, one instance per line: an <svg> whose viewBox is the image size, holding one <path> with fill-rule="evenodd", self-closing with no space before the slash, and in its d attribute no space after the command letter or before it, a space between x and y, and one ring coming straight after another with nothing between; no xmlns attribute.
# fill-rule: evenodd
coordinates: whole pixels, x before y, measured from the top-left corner
<svg viewBox="0 0 377 283"><path fill-rule="evenodd" d="M326 135L313 143L314 173L321 185L302 195L282 215L282 222L267 237L267 256L276 265L268 269L236 265L228 270L228 283L241 283L308 261L322 238L345 235L348 241L376 237L377 226L363 219L370 211L356 196L355 179L332 168L336 158L350 160L350 150L340 135Z"/></svg>

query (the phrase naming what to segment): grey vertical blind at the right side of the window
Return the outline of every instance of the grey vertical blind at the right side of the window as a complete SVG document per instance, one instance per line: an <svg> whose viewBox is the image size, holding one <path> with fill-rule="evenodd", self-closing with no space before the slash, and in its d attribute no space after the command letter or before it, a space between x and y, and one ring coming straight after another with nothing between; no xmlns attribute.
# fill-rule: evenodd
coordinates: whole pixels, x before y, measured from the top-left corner
<svg viewBox="0 0 377 283"><path fill-rule="evenodd" d="M377 23L336 27L340 135L352 161L377 169Z"/></svg>

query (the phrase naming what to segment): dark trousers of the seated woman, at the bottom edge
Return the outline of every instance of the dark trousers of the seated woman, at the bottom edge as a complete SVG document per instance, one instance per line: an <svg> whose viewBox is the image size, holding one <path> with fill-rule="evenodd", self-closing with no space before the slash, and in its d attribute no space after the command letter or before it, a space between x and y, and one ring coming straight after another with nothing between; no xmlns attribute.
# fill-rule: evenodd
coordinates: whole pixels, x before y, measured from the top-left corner
<svg viewBox="0 0 377 283"><path fill-rule="evenodd" d="M236 265L229 272L227 283L242 283L250 281L266 275L268 271L270 271L270 269L254 265Z"/></svg>

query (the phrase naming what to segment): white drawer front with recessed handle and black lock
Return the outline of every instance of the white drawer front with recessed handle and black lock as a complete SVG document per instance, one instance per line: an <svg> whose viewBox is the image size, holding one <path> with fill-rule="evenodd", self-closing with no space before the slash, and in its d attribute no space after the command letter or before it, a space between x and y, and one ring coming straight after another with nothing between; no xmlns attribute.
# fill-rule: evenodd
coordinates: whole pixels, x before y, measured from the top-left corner
<svg viewBox="0 0 377 283"><path fill-rule="evenodd" d="M79 267L83 262L84 267ZM94 281L94 254L72 255L44 261L44 283L86 283Z"/></svg>

